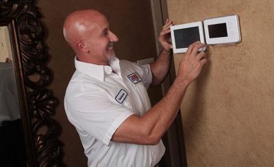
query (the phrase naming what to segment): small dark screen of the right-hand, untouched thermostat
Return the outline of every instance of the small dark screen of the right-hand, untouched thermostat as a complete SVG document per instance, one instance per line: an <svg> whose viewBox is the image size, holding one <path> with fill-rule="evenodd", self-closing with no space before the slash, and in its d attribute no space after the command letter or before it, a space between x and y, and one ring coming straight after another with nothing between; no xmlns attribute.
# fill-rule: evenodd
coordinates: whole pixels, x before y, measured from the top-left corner
<svg viewBox="0 0 274 167"><path fill-rule="evenodd" d="M208 33L210 38L227 37L227 24L208 25Z"/></svg>

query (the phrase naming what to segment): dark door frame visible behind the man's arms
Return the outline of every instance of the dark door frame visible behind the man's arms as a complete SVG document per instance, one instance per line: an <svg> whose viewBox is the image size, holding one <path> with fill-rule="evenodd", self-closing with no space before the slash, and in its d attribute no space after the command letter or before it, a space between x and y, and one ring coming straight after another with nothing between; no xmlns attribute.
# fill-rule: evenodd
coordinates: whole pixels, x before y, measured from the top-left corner
<svg viewBox="0 0 274 167"><path fill-rule="evenodd" d="M167 3L166 0L150 0L150 3L153 18L155 44L157 53L159 55L160 51L162 50L162 46L158 42L158 34L160 34L160 31L162 30L162 26L164 25L166 18L169 18ZM174 61L172 60L169 75L161 85L162 96L164 96L164 94L166 94L166 92L169 90L175 77L175 65ZM178 112L171 127L169 127L169 130L164 134L162 140L166 146L166 153L164 154L164 161L166 162L166 165L170 167L187 166L182 117L180 111Z"/></svg>

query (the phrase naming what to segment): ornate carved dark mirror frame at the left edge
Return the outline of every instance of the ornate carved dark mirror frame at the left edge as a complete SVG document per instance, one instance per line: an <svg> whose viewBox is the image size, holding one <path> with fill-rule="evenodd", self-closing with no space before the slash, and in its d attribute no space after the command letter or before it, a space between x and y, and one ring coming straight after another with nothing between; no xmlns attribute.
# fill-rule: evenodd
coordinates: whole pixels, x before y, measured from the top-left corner
<svg viewBox="0 0 274 167"><path fill-rule="evenodd" d="M56 100L51 82L44 29L34 0L0 0L0 26L8 26L21 108L27 164L62 166L58 123L51 118Z"/></svg>

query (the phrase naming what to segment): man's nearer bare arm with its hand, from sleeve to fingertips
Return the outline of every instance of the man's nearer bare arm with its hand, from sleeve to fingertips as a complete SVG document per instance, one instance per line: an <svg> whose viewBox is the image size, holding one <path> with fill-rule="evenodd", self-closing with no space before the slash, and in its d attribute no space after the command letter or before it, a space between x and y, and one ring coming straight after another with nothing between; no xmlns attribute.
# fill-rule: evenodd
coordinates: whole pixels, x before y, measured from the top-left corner
<svg viewBox="0 0 274 167"><path fill-rule="evenodd" d="M112 136L115 142L157 144L177 116L189 84L201 73L206 64L206 53L199 52L205 44L194 42L179 62L177 77L164 98L144 115L129 116Z"/></svg>

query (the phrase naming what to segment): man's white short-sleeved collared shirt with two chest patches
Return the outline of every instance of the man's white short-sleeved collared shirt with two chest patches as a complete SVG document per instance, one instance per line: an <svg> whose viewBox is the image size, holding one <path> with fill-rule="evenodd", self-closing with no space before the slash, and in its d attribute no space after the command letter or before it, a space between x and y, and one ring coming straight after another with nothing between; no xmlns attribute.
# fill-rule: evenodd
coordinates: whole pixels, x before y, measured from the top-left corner
<svg viewBox="0 0 274 167"><path fill-rule="evenodd" d="M157 145L110 141L123 121L151 108L147 88L152 81L149 65L114 58L110 66L79 62L69 82L64 107L88 157L88 166L155 166L164 155Z"/></svg>

